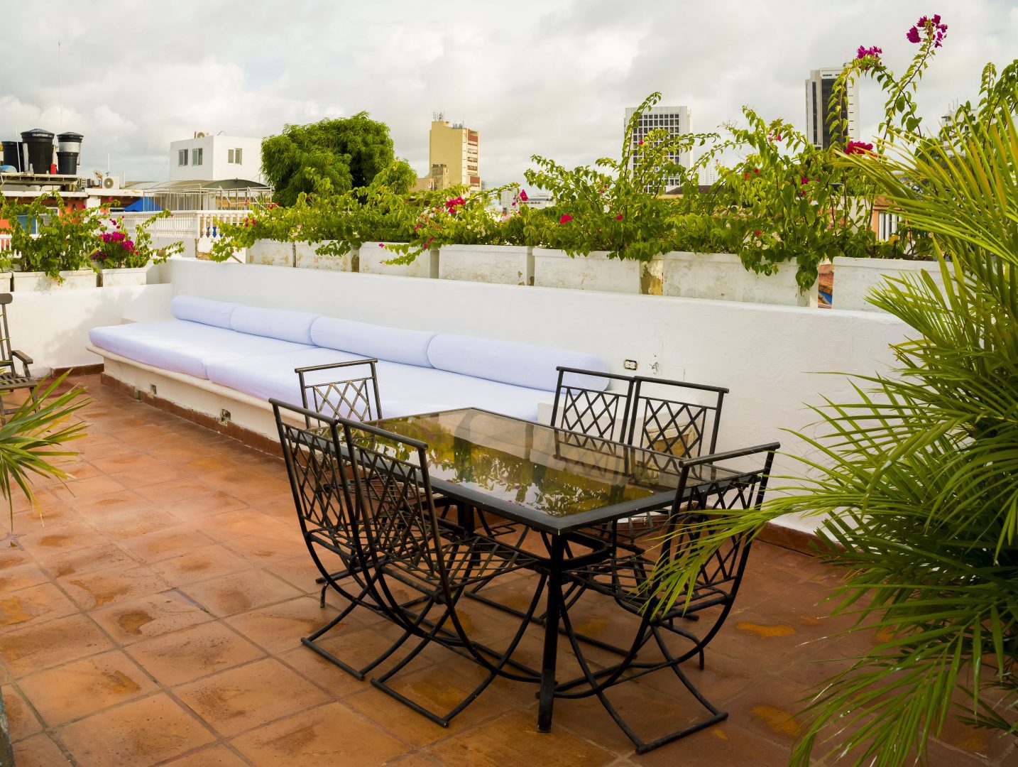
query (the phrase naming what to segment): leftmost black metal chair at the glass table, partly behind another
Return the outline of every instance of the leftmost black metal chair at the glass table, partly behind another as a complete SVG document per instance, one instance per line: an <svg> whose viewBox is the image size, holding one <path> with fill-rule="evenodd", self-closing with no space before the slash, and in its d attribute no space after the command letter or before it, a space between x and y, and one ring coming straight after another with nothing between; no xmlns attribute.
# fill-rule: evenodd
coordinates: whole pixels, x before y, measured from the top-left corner
<svg viewBox="0 0 1018 767"><path fill-rule="evenodd" d="M320 581L325 584L322 607L325 607L325 592L330 588L347 602L336 617L300 642L347 673L363 679L369 671L409 639L410 634L404 632L392 647L359 668L340 660L318 644L319 639L357 607L378 614L384 614L384 611L372 599L370 573L361 567L358 528L349 494L355 474L344 458L338 422L306 407L277 399L270 402L276 417L300 530L312 559L322 573ZM294 423L288 423L285 416ZM303 427L295 425L300 421Z"/></svg>

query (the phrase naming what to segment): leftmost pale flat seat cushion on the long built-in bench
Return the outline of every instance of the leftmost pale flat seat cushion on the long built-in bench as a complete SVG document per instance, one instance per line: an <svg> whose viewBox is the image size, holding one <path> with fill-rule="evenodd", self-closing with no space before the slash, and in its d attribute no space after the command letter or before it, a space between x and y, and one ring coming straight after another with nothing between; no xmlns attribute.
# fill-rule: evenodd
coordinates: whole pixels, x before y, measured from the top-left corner
<svg viewBox="0 0 1018 767"><path fill-rule="evenodd" d="M115 354L197 378L208 378L206 366L214 360L309 348L305 344L238 333L188 320L93 328L89 331L89 340Z"/></svg>

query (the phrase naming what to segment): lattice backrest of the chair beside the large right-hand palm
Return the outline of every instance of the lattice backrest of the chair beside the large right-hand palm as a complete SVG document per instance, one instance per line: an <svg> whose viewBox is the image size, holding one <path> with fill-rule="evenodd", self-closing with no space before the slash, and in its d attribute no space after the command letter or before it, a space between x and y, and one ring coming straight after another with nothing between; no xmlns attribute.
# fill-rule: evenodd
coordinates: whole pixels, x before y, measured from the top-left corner
<svg viewBox="0 0 1018 767"><path fill-rule="evenodd" d="M734 511L758 508L764 502L774 454L779 447L774 442L678 460L679 483L661 557L678 562L686 556L702 534L697 523L709 518L708 509ZM735 465L734 461L738 461L739 468L733 473L725 464L731 462ZM748 533L734 533L699 566L699 601L691 602L690 607L696 610L723 604L725 610L717 627L720 627L738 591L751 543Z"/></svg>

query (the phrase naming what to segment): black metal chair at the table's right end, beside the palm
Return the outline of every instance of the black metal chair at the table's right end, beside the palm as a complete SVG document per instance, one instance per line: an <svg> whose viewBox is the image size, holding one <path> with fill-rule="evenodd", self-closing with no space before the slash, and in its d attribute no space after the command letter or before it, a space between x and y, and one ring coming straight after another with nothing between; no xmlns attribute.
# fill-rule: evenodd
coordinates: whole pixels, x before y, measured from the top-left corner
<svg viewBox="0 0 1018 767"><path fill-rule="evenodd" d="M725 545L708 562L698 567L692 593L680 595L669 606L667 590L663 589L664 573L684 566L684 557L698 540L697 525L709 518L709 509L756 508L764 501L768 477L778 443L758 445L694 458L678 458L679 484L675 502L660 541L656 561L648 561L642 552L628 557L616 556L603 564L572 570L565 574L566 583L578 585L582 601L569 601L562 613L563 627L582 669L582 676L564 682L556 689L559 698L597 696L619 724L636 752L643 754L667 743L709 727L728 717L714 706L682 670L681 664L698 657L703 668L703 650L717 636L732 609L739 591L752 538L745 533L729 537ZM752 468L738 473L722 470L724 461L751 461ZM706 480L706 481L704 481ZM622 609L638 620L632 642L617 648L622 660L608 667L595 669L587 660L577 635L571 612L577 612L593 594L613 599ZM688 619L697 617L699 620ZM685 618L687 620L681 620ZM678 638L683 647L678 651L669 646L669 638ZM656 645L660 656L648 660L646 650ZM644 741L623 719L608 698L612 688L656 671L670 670L706 709L708 716L674 732Z"/></svg>

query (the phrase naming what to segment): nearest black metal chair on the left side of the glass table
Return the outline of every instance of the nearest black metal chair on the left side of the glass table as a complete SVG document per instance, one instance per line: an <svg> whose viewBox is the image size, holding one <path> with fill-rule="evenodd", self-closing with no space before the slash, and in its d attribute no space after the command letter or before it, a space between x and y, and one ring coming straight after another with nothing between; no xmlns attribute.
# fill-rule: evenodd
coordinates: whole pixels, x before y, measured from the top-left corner
<svg viewBox="0 0 1018 767"><path fill-rule="evenodd" d="M540 675L515 664L511 656L533 615L542 592L540 577L519 628L503 650L492 650L470 636L457 604L466 590L522 568L536 559L518 549L478 534L467 524L440 519L435 508L426 450L416 440L341 419L345 444L358 482L352 490L357 521L361 567L374 600L396 625L417 639L416 645L372 684L428 717L447 726L497 677L536 682ZM407 600L397 591L410 590ZM392 680L430 645L439 645L478 664L487 674L462 701L437 713L395 690ZM517 670L509 670L512 666Z"/></svg>

